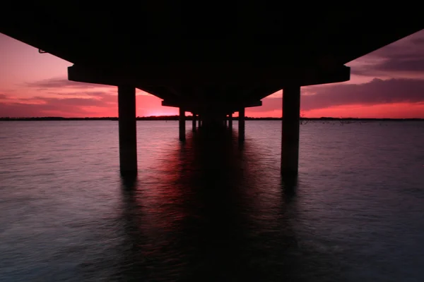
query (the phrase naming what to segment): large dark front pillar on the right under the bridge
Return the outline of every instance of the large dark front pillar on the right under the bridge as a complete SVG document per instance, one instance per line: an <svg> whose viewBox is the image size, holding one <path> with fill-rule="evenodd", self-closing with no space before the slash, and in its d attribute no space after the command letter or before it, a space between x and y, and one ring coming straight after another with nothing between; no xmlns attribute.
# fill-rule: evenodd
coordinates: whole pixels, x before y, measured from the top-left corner
<svg viewBox="0 0 424 282"><path fill-rule="evenodd" d="M281 174L296 175L299 166L300 86L283 90Z"/></svg>

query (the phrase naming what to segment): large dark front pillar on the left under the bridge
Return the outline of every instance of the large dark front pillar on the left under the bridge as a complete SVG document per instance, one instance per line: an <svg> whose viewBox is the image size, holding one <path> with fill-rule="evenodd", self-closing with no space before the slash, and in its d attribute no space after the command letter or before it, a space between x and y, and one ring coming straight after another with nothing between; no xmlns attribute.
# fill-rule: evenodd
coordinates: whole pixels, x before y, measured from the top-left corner
<svg viewBox="0 0 424 282"><path fill-rule="evenodd" d="M136 88L118 86L119 168L137 173Z"/></svg>

